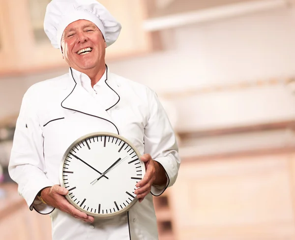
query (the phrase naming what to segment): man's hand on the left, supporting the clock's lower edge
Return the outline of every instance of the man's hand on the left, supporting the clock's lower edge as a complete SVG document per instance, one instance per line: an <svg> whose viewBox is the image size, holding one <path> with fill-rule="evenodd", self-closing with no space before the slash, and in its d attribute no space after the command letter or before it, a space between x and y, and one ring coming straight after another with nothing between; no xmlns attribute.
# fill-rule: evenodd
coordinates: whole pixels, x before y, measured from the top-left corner
<svg viewBox="0 0 295 240"><path fill-rule="evenodd" d="M82 212L71 205L64 197L66 194L68 194L68 190L59 185L46 187L41 191L41 197L46 204L85 222L93 222L94 217L87 215L85 212Z"/></svg>

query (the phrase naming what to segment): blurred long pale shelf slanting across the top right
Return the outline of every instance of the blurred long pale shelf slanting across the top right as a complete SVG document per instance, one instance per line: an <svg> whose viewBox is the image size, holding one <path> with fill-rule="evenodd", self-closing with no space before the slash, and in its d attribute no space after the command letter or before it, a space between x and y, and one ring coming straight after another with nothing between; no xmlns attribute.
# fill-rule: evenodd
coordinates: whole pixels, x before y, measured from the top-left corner
<svg viewBox="0 0 295 240"><path fill-rule="evenodd" d="M292 0L175 0L166 9L145 20L144 29L158 31L216 21L259 11L287 8L290 3Z"/></svg>

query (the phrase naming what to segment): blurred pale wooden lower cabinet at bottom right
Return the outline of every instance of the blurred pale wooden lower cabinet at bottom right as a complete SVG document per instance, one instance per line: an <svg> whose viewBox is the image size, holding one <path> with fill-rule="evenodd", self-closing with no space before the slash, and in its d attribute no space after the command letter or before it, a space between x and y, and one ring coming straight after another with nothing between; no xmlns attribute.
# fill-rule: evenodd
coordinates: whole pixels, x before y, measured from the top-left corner
<svg viewBox="0 0 295 240"><path fill-rule="evenodd" d="M170 189L177 240L294 240L295 155L183 161Z"/></svg>

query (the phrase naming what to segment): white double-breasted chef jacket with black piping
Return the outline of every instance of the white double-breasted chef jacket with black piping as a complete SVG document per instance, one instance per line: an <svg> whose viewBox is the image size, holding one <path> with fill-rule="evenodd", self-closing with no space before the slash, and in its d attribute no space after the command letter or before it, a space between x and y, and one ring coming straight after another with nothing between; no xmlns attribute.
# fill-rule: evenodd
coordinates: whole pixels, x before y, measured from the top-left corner
<svg viewBox="0 0 295 240"><path fill-rule="evenodd" d="M117 133L141 154L149 153L164 167L166 186L152 186L144 201L127 213L93 223L36 200L41 189L59 184L67 148L81 136L99 131ZM179 165L174 131L154 91L108 69L92 89L86 74L70 68L25 93L8 170L30 210L50 214L53 240L157 240L152 194L158 196L174 184Z"/></svg>

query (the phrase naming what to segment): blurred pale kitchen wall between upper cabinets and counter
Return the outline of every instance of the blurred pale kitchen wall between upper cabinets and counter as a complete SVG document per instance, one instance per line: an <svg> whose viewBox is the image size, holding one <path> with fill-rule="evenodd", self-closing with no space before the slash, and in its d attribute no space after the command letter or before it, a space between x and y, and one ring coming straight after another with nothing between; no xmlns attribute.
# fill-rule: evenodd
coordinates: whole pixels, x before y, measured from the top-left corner
<svg viewBox="0 0 295 240"><path fill-rule="evenodd" d="M294 76L294 23L295 9L291 8L164 30L165 50L108 65L113 72L146 84L160 95L248 84L221 92L176 95L172 103L179 113L180 131L293 119L295 98L289 88L280 82L261 86L259 80ZM30 85L65 72L67 69L1 79L0 102L5 104L0 116L18 113Z"/></svg>

